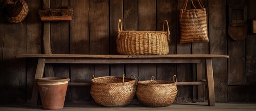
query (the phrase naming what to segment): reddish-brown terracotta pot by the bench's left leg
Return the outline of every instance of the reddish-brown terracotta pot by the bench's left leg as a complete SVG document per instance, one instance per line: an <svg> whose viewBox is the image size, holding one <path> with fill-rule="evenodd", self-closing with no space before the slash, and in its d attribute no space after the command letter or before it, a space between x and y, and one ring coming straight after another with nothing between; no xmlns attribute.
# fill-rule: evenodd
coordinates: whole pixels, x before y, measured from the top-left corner
<svg viewBox="0 0 256 111"><path fill-rule="evenodd" d="M37 79L43 109L63 108L69 80L69 78L58 77Z"/></svg>

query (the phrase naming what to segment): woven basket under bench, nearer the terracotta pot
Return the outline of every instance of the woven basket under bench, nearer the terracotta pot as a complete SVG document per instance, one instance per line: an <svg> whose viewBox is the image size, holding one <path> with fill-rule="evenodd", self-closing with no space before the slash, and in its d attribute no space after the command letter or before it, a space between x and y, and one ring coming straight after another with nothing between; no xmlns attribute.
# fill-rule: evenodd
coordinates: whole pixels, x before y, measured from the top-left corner
<svg viewBox="0 0 256 111"><path fill-rule="evenodd" d="M134 77L134 76L133 76ZM135 77L134 77L135 78ZM105 107L121 107L128 105L136 91L134 79L105 76L91 80L90 94L95 102Z"/></svg>

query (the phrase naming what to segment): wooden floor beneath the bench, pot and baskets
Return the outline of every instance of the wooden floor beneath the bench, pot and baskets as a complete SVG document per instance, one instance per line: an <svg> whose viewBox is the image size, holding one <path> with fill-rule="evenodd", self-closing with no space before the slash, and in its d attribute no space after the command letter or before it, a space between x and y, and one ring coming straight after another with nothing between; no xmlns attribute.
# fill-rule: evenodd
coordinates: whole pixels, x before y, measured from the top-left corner
<svg viewBox="0 0 256 111"><path fill-rule="evenodd" d="M29 105L0 105L0 111L45 111L42 107L29 107ZM140 104L126 105L124 107L102 107L96 104L79 105L69 104L58 111L256 111L256 103L216 103L207 106L207 103L173 104L168 107L150 108Z"/></svg>

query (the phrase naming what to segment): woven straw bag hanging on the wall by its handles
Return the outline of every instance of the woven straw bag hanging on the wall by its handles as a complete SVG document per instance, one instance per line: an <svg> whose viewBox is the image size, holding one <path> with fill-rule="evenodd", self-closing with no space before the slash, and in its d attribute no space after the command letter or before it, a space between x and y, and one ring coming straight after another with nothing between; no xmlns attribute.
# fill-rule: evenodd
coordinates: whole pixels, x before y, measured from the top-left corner
<svg viewBox="0 0 256 111"><path fill-rule="evenodd" d="M207 15L202 1L197 0L201 9L187 10L187 2L180 9L180 43L209 42L207 33Z"/></svg>

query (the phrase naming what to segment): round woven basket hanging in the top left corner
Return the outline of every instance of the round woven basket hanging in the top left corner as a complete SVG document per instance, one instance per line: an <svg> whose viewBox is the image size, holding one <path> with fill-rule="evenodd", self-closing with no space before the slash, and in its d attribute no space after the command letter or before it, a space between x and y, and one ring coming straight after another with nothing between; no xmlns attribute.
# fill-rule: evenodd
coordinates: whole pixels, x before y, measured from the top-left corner
<svg viewBox="0 0 256 111"><path fill-rule="evenodd" d="M28 14L28 4L25 0L6 0L4 16L9 23L19 23Z"/></svg>

